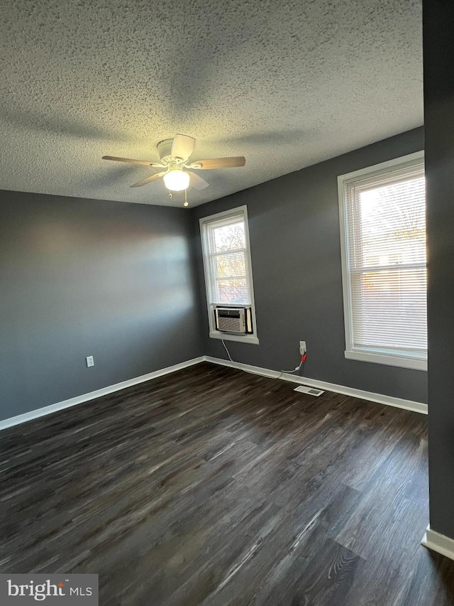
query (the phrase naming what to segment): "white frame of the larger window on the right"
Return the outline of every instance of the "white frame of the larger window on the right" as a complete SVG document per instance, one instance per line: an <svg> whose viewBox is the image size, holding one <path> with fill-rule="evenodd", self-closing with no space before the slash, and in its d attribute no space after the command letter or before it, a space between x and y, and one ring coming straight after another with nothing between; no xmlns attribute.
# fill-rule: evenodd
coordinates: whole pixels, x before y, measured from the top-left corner
<svg viewBox="0 0 454 606"><path fill-rule="evenodd" d="M348 216L347 216L347 185L355 180L373 178L375 176L392 173L406 166L414 166L424 161L424 152L416 151L406 156L394 158L374 166L361 168L359 171L338 176L339 222L341 230L341 264L342 264L342 290L343 313L345 328L345 358L360 360L360 362L373 362L387 364L401 368L427 370L427 352L419 354L401 350L386 350L378 347L354 347L353 345L353 305L350 288L349 254L348 254ZM427 266L427 264L426 264Z"/></svg>

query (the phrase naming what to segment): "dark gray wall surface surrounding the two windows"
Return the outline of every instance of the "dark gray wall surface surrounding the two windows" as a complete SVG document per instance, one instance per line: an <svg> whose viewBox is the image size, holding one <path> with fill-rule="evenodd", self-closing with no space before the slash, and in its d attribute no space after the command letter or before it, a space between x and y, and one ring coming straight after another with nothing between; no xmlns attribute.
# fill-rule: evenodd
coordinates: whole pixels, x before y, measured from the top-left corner
<svg viewBox="0 0 454 606"><path fill-rule="evenodd" d="M427 401L426 372L344 357L337 190L338 175L421 149L422 127L194 209L198 230L199 217L248 205L260 345L228 342L233 359L293 368L299 362L298 341L306 340L306 377ZM197 262L204 302L200 245ZM201 307L204 352L225 358L221 342L208 336L206 304Z"/></svg>

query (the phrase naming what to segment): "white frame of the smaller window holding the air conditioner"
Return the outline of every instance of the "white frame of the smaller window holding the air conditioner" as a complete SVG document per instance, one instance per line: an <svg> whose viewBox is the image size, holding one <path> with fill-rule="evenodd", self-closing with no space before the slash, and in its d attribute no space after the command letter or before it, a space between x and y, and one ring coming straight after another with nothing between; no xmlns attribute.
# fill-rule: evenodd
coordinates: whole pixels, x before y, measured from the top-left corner
<svg viewBox="0 0 454 606"><path fill-rule="evenodd" d="M250 309L251 309L251 315L252 315L252 321L253 321L253 332L249 335L233 335L230 334L229 332L221 332L220 330L216 330L216 327L214 325L214 313L213 310L216 307L216 305L221 305L221 303L211 303L210 301L210 293L209 293L209 287L208 287L208 265L209 263L207 262L207 256L208 256L208 251L206 251L205 249L205 237L204 237L204 225L206 223L209 223L211 221L217 221L219 219L222 219L223 217L227 218L229 216L233 216L233 215L239 215L240 213L243 214L243 220L244 220L244 226L245 226L245 244L246 244L246 250L245 250L245 256L246 256L246 262L247 262L247 274L248 274L248 278L249 278L249 285L250 285ZM209 323L209 337L211 339L223 339L225 341L236 341L236 342L241 342L241 343L250 343L252 345L259 345L259 340L258 340L258 335L257 335L257 323L255 320L255 301L254 301L254 284L253 284L253 266L252 266L252 261L250 258L250 240L249 240L249 224L248 224L248 207L246 205L243 206L237 206L235 208L231 208L229 210L223 210L223 212L216 212L215 215L208 215L207 217L201 217L201 219L199 220L199 226L200 226L200 238L201 238L201 252L202 252L202 259L204 262L204 280L205 280L205 293L206 293L206 307L208 310L208 323ZM241 305L234 305L232 304L223 304L223 307L241 307ZM245 305L247 306L247 305Z"/></svg>

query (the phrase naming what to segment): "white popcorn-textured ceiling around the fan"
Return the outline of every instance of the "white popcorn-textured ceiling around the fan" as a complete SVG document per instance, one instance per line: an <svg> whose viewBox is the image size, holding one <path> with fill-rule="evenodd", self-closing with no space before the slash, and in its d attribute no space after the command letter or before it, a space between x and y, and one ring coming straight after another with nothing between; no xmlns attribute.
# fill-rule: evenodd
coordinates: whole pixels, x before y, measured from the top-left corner
<svg viewBox="0 0 454 606"><path fill-rule="evenodd" d="M419 126L421 0L1 0L0 189L180 205L156 144L196 137L201 204Z"/></svg>

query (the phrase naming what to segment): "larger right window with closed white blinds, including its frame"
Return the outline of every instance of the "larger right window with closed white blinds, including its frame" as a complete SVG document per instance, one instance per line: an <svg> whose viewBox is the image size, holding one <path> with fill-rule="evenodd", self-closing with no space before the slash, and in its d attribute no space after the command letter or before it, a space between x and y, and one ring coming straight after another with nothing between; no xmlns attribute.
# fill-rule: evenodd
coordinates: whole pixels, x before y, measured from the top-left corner
<svg viewBox="0 0 454 606"><path fill-rule="evenodd" d="M338 177L345 357L427 369L423 152Z"/></svg>

